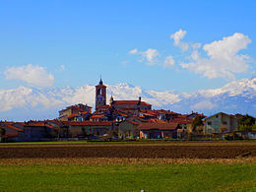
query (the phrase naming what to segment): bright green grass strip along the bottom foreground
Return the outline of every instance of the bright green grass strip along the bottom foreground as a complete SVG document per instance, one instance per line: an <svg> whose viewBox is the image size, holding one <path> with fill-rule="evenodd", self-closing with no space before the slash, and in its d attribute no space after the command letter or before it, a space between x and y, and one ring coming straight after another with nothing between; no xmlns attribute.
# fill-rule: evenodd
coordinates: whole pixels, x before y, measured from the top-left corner
<svg viewBox="0 0 256 192"><path fill-rule="evenodd" d="M255 191L256 164L0 165L0 191Z"/></svg>

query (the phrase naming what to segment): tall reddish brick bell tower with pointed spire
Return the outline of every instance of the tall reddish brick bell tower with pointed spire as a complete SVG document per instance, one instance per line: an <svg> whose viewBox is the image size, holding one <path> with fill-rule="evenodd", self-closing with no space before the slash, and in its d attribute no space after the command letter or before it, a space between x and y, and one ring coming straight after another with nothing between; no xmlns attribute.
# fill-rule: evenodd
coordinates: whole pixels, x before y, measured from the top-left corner
<svg viewBox="0 0 256 192"><path fill-rule="evenodd" d="M96 110L105 105L106 87L100 78L98 85L96 85Z"/></svg>

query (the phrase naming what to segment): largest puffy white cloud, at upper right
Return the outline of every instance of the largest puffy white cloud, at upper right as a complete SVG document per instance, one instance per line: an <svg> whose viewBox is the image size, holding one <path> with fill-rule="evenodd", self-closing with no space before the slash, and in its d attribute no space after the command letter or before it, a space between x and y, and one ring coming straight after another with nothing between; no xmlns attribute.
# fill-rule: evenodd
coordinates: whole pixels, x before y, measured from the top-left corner
<svg viewBox="0 0 256 192"><path fill-rule="evenodd" d="M180 63L182 68L202 74L209 79L224 78L235 79L235 74L244 73L249 68L247 64L248 56L238 54L245 49L251 39L243 33L236 32L222 40L214 41L203 46L208 58L200 57L197 50L193 51L191 58L193 61Z"/></svg>

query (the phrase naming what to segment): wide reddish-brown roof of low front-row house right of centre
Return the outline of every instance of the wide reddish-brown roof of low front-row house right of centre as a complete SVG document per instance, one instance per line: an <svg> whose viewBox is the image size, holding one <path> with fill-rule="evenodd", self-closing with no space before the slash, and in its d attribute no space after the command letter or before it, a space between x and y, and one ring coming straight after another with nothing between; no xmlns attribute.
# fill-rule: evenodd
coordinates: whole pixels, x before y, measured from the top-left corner
<svg viewBox="0 0 256 192"><path fill-rule="evenodd" d="M177 123L140 123L137 127L138 130L175 130Z"/></svg>

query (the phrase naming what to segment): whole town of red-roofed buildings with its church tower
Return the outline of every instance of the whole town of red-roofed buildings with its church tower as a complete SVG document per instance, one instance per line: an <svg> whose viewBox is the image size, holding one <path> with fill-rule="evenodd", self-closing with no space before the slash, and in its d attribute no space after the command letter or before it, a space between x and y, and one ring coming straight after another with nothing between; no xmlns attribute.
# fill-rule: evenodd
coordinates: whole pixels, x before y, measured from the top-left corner
<svg viewBox="0 0 256 192"><path fill-rule="evenodd" d="M0 122L2 142L123 139L256 139L255 119L219 112L205 116L152 109L137 100L106 100L107 87L96 85L96 111L78 103L59 111L54 120ZM247 122L247 123L246 123ZM249 123L248 123L249 122Z"/></svg>

